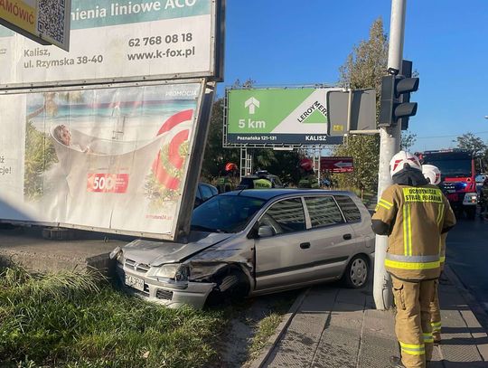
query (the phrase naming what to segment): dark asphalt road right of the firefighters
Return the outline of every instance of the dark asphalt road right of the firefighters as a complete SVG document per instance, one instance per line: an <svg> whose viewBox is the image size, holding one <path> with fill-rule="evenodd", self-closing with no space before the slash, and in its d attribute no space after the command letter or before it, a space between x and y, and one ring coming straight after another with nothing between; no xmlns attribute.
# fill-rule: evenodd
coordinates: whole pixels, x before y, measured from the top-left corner
<svg viewBox="0 0 488 368"><path fill-rule="evenodd" d="M447 236L446 263L488 314L488 221L458 220Z"/></svg>

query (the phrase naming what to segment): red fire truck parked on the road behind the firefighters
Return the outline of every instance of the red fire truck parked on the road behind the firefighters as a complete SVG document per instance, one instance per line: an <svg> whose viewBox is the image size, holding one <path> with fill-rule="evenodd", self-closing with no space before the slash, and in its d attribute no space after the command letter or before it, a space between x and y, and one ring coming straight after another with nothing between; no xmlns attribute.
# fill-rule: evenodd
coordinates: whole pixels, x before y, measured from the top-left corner
<svg viewBox="0 0 488 368"><path fill-rule="evenodd" d="M451 207L457 215L466 213L468 219L476 216L476 172L474 156L470 151L448 149L426 151L418 154L422 164L436 165L441 171L439 187L446 194Z"/></svg>

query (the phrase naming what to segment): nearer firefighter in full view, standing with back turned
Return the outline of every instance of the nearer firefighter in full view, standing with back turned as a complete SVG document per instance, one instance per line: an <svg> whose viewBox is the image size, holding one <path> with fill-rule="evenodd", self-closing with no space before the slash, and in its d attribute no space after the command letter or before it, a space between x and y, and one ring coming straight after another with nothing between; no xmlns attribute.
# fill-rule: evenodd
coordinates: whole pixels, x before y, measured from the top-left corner
<svg viewBox="0 0 488 368"><path fill-rule="evenodd" d="M401 358L392 356L389 362L425 368L434 343L429 307L440 275L439 242L455 225L455 215L440 189L427 183L417 156L400 151L389 172L393 184L372 216L373 231L389 237L385 267L393 284L401 351Z"/></svg>

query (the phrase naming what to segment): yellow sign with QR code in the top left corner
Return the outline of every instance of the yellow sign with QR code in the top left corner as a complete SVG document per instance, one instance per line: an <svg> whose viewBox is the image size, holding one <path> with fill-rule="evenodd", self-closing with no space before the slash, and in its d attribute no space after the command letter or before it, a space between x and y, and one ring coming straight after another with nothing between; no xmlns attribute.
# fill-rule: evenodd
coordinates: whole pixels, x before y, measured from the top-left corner
<svg viewBox="0 0 488 368"><path fill-rule="evenodd" d="M0 24L34 42L70 47L70 0L5 0L0 2Z"/></svg>

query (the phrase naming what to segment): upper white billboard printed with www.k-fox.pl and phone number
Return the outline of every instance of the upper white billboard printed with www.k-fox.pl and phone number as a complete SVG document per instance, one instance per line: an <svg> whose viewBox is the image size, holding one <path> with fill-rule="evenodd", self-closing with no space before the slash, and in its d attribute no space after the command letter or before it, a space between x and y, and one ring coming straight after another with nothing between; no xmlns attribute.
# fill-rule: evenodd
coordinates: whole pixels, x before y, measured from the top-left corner
<svg viewBox="0 0 488 368"><path fill-rule="evenodd" d="M221 78L223 0L73 0L70 52L0 29L0 88Z"/></svg>

